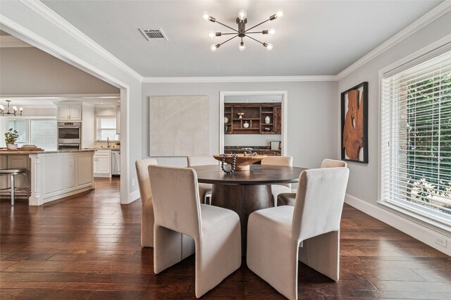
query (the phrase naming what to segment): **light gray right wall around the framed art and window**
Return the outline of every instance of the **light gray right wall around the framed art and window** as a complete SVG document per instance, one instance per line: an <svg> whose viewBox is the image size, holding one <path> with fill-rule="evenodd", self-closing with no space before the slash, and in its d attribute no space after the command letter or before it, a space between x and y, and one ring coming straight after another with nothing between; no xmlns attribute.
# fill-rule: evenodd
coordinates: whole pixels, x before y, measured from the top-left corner
<svg viewBox="0 0 451 300"><path fill-rule="evenodd" d="M451 13L446 13L433 23L423 27L399 44L396 44L376 58L373 58L373 60L338 82L337 97L339 97L341 92L358 85L360 82L369 82L369 163L367 165L362 163L348 163L350 168L350 180L347 185L347 193L351 196L362 199L373 205L376 205L376 200L378 199L378 120L380 118L380 99L378 99L379 70L418 51L424 46L445 37L445 35L450 34ZM336 99L338 99L337 97ZM339 113L340 112L338 111L338 114ZM340 155L340 144L338 145L338 155Z"/></svg>

